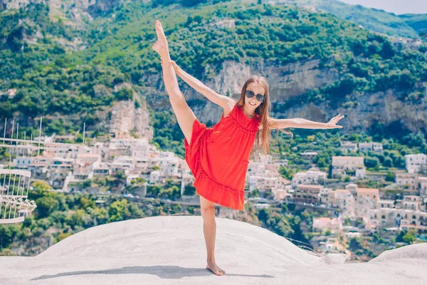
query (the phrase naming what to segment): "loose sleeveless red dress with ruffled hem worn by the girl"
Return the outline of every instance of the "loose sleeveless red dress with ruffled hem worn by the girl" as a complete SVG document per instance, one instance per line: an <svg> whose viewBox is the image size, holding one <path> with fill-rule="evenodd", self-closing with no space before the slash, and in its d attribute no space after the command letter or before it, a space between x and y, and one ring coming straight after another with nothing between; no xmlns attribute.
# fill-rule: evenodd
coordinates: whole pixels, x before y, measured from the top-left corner
<svg viewBox="0 0 427 285"><path fill-rule="evenodd" d="M243 109L233 110L214 125L194 120L190 145L184 138L185 160L196 180L196 192L211 202L233 209L243 209L248 158L260 115L248 118Z"/></svg>

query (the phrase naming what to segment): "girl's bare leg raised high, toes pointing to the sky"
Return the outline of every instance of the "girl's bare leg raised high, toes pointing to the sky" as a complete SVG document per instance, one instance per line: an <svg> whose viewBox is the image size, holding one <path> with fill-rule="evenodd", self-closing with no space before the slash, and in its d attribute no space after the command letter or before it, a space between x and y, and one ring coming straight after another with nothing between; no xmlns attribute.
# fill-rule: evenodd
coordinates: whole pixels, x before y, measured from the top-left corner
<svg viewBox="0 0 427 285"><path fill-rule="evenodd" d="M171 57L169 55L167 39L166 36L164 36L162 24L156 20L155 25L157 41L153 44L152 48L160 55L164 86L166 87L167 94L169 95L172 110L174 110L176 120L178 121L178 125L181 128L182 133L184 133L187 142L190 143L191 130L193 128L194 120L196 120L196 116L189 108L189 105L187 105L184 94L179 90L174 67L172 66L172 63L169 62Z"/></svg>

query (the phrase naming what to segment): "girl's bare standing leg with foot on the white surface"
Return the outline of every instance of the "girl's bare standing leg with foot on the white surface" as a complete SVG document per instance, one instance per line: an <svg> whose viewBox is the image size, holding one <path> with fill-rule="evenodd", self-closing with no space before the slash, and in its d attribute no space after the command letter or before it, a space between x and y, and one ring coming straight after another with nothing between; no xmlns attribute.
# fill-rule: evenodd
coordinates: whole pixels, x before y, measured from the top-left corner
<svg viewBox="0 0 427 285"><path fill-rule="evenodd" d="M226 271L219 268L215 262L215 237L216 237L216 222L215 222L215 206L214 203L200 196L201 217L203 217L203 233L206 242L206 251L208 257L206 261L206 269L211 270L216 275L226 274Z"/></svg>

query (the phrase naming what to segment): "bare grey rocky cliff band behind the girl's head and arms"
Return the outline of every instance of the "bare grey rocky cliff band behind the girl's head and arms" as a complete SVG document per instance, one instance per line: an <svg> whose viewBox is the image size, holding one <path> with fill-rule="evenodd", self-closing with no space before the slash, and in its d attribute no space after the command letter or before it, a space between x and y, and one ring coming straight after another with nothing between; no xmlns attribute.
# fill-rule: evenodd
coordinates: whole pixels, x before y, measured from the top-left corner
<svg viewBox="0 0 427 285"><path fill-rule="evenodd" d="M207 66L205 75L202 78L196 77L216 92L238 100L241 86L246 79L253 74L260 74L268 79L273 106L284 105L290 98L297 102L289 108L276 107L275 112L270 113L274 118L305 118L327 122L334 115L341 113L346 115L346 119L342 120L344 131L352 132L366 131L374 122L389 125L397 121L413 132L425 130L427 126L427 88L424 97L417 103L402 101L397 91L387 90L385 93L354 94L352 103L332 108L330 103L314 104L303 99L297 100L298 96L308 90L321 88L338 79L336 70L320 68L317 60L286 66L272 66L263 62L248 66L245 63L226 61L222 63L220 70L215 73L214 67ZM152 82L153 86L149 88L148 93L158 94L151 96L149 104L153 108L170 108L162 77L157 75L147 80ZM201 122L218 122L222 114L220 107L190 88L184 81L179 80L179 84L191 109Z"/></svg>

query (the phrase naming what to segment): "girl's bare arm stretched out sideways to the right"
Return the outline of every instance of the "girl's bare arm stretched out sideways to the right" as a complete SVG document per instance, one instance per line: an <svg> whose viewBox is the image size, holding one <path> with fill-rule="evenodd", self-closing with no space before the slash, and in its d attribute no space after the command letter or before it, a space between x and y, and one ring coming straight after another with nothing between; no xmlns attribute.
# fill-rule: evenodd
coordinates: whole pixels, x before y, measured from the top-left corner
<svg viewBox="0 0 427 285"><path fill-rule="evenodd" d="M284 129L284 128L301 128L301 129L342 129L342 125L337 125L339 120L344 118L344 115L337 115L332 118L328 123L319 123L312 120L305 120L300 118L294 119L273 119L271 118L271 128Z"/></svg>

